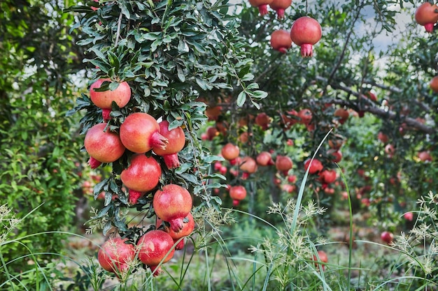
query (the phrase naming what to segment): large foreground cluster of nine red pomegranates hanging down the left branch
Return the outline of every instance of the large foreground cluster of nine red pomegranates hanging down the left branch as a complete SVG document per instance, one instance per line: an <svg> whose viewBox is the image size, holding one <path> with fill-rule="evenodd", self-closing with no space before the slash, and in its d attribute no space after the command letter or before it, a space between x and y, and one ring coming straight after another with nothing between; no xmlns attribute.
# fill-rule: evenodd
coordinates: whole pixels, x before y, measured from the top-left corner
<svg viewBox="0 0 438 291"><path fill-rule="evenodd" d="M112 130L113 104L127 105L131 89L127 82L120 82L113 90L101 91L99 88L104 82L111 83L111 80L100 79L90 87L90 99L101 108L104 119L85 135L90 167L113 163L126 155L129 162L120 173L120 180L128 191L128 203L132 206L146 193L153 193L152 206L157 221L154 230L145 232L136 241L111 237L99 250L98 260L107 271L120 274L138 259L157 275L160 264L170 260L175 249L183 248L184 237L195 228L189 191L177 184L160 183L162 164L168 170L180 166L178 152L185 146L185 133L181 127L169 129L164 117L158 122L144 112L132 112L118 131Z"/></svg>

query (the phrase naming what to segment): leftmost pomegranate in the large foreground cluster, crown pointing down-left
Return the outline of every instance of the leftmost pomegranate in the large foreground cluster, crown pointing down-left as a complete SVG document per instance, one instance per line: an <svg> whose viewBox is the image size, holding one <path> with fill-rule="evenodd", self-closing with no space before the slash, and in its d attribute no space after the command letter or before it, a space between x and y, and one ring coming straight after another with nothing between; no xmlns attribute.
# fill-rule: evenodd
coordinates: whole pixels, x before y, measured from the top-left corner
<svg viewBox="0 0 438 291"><path fill-rule="evenodd" d="M101 163L117 161L125 153L125 146L119 135L105 128L104 123L96 124L85 135L84 146L90 155L88 163L92 169L99 167Z"/></svg>

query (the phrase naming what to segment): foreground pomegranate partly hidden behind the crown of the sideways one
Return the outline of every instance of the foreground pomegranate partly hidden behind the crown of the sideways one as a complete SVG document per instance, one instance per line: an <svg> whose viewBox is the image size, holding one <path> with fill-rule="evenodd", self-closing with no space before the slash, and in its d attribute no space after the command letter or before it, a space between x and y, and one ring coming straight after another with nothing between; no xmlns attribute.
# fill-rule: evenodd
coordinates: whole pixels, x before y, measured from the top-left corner
<svg viewBox="0 0 438 291"><path fill-rule="evenodd" d="M166 149L153 147L153 151L158 156L164 158L164 163L169 170L180 166L178 160L178 151L181 151L185 145L184 130L180 126L169 130L169 122L163 120L160 122L160 134L169 140Z"/></svg>

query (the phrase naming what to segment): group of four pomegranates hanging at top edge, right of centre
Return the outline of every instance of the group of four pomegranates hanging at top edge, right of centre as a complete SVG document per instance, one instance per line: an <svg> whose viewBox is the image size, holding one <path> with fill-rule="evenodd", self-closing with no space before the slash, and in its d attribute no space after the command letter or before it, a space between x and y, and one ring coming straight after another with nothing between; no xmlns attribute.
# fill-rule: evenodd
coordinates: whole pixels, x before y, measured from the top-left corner
<svg viewBox="0 0 438 291"><path fill-rule="evenodd" d="M292 0L249 0L251 6L257 7L260 15L268 13L268 6L276 11L279 20L285 17L285 9L289 8ZM318 21L309 16L299 17L292 24L290 31L278 29L271 33L271 47L283 54L288 52L292 43L301 47L302 57L313 56L313 45L318 43L322 36L322 29Z"/></svg>

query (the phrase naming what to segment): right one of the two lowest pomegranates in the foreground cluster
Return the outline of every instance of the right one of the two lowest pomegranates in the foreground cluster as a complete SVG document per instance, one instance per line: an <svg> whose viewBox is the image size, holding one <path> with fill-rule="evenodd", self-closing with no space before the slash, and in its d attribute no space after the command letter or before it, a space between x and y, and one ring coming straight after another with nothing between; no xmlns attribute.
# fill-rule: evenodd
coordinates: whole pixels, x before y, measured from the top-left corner
<svg viewBox="0 0 438 291"><path fill-rule="evenodd" d="M143 234L137 242L139 260L146 264L153 276L161 273L160 264L169 262L174 256L174 240L163 230L150 230Z"/></svg>

